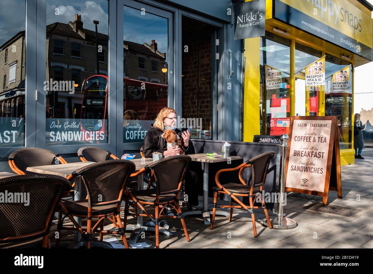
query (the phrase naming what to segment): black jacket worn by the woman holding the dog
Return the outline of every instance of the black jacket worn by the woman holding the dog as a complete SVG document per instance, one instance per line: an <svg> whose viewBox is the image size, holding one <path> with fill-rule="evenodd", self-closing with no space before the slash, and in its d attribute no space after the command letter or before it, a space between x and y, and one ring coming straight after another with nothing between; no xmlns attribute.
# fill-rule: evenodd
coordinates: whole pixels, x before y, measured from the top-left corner
<svg viewBox="0 0 373 274"><path fill-rule="evenodd" d="M181 138L181 142L184 144L181 131L175 129L176 134ZM162 137L163 130L151 125L150 130L146 133L144 143L142 144L142 150L145 158L153 158L153 152L163 152L167 150L166 139ZM185 154L195 154L194 146L192 141L189 139L188 147L184 147Z"/></svg>

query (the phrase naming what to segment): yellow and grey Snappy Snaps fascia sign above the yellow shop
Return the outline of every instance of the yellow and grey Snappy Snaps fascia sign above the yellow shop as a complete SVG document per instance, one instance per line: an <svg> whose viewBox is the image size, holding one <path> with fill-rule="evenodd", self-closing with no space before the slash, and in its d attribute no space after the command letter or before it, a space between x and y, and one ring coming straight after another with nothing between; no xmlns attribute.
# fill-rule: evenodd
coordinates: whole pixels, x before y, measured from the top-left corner
<svg viewBox="0 0 373 274"><path fill-rule="evenodd" d="M273 18L372 60L371 11L358 1L274 0Z"/></svg>

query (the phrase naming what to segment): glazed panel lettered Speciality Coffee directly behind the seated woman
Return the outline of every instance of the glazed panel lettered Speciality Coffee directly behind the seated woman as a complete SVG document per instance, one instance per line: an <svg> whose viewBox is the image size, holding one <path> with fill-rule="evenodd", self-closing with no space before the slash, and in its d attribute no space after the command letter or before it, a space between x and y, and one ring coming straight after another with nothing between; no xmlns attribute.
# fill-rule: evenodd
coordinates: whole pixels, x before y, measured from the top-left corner
<svg viewBox="0 0 373 274"><path fill-rule="evenodd" d="M159 111L175 108L174 16L137 1L123 1L120 9L118 48L122 50L117 60L123 63L117 63L117 70L123 78L117 78L117 91L123 88L123 97L117 97L117 107L123 120L117 121L117 138L123 140L123 152L140 149Z"/></svg>

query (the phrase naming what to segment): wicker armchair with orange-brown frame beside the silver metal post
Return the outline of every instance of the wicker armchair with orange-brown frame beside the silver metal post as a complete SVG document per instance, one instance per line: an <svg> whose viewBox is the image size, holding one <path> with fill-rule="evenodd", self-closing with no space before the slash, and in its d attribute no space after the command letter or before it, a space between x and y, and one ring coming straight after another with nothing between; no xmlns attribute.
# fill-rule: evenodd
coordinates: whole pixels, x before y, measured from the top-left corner
<svg viewBox="0 0 373 274"><path fill-rule="evenodd" d="M254 207L254 200L256 197L256 193L261 192L263 189L264 182L266 181L269 162L274 155L275 155L275 152L273 151L264 152L260 155L257 155L254 158L251 158L250 160L247 160L245 163L242 163L238 167L235 167L232 169L221 169L216 173L215 182L217 186L213 187L214 206L213 206L213 214L212 214L210 229L213 229L213 226L214 226L215 211L217 207L231 208L231 214L229 215L229 221L232 221L233 208L240 208L240 209L249 211L251 213L251 220L253 221L254 237L257 237L257 232L256 232L255 216L254 216L253 209L263 208L264 213L266 214L269 228L272 229L272 223L268 215L266 204L264 203L263 195L261 195L261 207ZM247 185L244 179L242 179L242 171L247 167L251 167L250 185ZM228 183L228 184L222 185L219 182L219 175L221 173L228 172L228 171L236 171L236 170L239 170L238 178L242 184ZM229 196L231 196L231 205L218 205L217 198L220 194L228 194ZM248 196L250 207L242 203L237 198L237 196ZM233 205L233 203L236 203L238 205Z"/></svg>

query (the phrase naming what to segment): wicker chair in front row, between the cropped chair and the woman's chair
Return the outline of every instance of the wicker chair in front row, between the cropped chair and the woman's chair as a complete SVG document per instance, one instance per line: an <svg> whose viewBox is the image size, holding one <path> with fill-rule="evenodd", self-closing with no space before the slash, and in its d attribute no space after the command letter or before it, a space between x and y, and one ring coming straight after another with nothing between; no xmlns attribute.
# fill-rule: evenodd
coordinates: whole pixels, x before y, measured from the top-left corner
<svg viewBox="0 0 373 274"><path fill-rule="evenodd" d="M60 204L62 211L65 212L65 217L62 218L62 212L59 212L57 231L60 232L63 229L78 230L87 241L87 248L90 248L91 238L95 232L100 233L100 240L103 239L103 233L120 234L123 244L128 248L125 230L122 227L119 214L124 189L130 174L134 170L135 164L131 161L109 160L90 164L74 171L67 179L80 175L87 190L87 199L63 201ZM74 216L87 218L87 229L83 230L74 220ZM69 217L76 228L62 225L66 217ZM94 226L92 218L99 218ZM105 219L109 219L118 226L118 231L104 230ZM98 227L100 227L100 230L98 230ZM56 247L59 246L59 241L60 239L57 239Z"/></svg>

